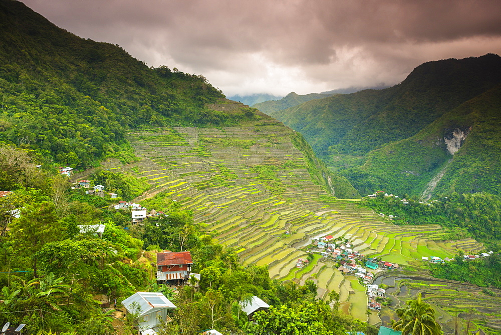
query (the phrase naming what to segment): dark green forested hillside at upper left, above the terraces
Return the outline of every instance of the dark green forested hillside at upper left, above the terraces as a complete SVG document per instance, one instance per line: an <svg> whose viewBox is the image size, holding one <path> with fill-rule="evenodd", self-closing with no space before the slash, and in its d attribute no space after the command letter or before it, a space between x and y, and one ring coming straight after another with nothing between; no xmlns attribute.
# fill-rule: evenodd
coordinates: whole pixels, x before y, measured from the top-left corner
<svg viewBox="0 0 501 335"><path fill-rule="evenodd" d="M133 159L127 129L248 118L206 109L223 95L203 76L148 68L120 46L81 39L21 2L0 1L0 32L0 141L59 164Z"/></svg>

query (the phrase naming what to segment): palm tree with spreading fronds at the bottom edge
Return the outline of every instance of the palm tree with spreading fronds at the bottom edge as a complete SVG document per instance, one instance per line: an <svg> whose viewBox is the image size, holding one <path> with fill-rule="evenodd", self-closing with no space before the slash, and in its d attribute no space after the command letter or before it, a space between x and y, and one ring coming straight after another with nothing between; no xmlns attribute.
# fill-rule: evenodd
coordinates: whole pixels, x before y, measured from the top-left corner
<svg viewBox="0 0 501 335"><path fill-rule="evenodd" d="M392 321L392 328L402 331L403 335L440 335L442 327L435 320L435 310L421 298L407 301L407 306L396 310L400 320Z"/></svg>

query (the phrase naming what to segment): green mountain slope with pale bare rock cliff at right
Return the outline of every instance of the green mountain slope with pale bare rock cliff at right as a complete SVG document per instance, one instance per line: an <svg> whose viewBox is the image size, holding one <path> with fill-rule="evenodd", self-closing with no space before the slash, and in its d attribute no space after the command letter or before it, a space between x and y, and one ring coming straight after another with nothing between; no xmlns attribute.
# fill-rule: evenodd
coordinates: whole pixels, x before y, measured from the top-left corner
<svg viewBox="0 0 501 335"><path fill-rule="evenodd" d="M400 194L424 192L426 197L452 192L499 194L500 111L501 86L497 86L418 134L371 151L364 165L345 173L365 192L386 187ZM440 178L430 184L439 172Z"/></svg>

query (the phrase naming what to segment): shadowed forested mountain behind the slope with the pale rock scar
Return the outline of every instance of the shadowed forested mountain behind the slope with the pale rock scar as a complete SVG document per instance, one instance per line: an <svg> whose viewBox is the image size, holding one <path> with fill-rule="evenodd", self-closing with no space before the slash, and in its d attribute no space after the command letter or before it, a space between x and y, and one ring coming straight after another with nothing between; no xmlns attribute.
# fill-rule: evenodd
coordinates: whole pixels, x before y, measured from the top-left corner
<svg viewBox="0 0 501 335"><path fill-rule="evenodd" d="M300 131L321 157L363 155L415 135L500 82L497 55L448 59L418 66L391 88L336 95L269 114Z"/></svg>

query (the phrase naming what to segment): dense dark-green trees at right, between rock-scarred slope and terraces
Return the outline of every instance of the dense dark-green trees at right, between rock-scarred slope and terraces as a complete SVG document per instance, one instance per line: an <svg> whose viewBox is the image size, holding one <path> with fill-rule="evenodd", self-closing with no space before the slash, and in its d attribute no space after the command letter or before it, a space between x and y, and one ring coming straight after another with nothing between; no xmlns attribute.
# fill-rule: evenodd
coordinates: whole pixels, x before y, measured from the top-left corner
<svg viewBox="0 0 501 335"><path fill-rule="evenodd" d="M404 224L439 224L448 232L437 237L455 240L471 236L493 250L501 250L501 197L489 193L453 193L449 197L423 203L417 197L385 197L378 193L375 199L361 202L377 213L393 215L392 222Z"/></svg>

